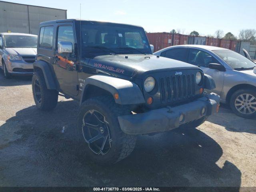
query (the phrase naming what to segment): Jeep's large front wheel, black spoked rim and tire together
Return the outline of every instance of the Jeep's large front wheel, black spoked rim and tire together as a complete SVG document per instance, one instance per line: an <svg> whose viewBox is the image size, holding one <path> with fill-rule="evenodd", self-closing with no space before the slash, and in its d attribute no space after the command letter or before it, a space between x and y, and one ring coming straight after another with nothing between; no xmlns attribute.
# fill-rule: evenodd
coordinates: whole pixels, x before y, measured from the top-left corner
<svg viewBox="0 0 256 192"><path fill-rule="evenodd" d="M131 114L125 106L114 102L112 96L86 100L78 115L77 134L86 156L99 164L114 164L133 151L136 136L122 132L118 116Z"/></svg>

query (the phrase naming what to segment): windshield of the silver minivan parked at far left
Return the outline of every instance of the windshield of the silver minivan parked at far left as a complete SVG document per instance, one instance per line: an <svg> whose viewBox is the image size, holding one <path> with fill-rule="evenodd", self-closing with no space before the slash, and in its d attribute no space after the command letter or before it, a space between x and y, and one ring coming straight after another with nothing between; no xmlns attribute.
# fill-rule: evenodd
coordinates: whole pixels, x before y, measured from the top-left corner
<svg viewBox="0 0 256 192"><path fill-rule="evenodd" d="M36 48L37 36L5 35L5 47L31 47Z"/></svg>

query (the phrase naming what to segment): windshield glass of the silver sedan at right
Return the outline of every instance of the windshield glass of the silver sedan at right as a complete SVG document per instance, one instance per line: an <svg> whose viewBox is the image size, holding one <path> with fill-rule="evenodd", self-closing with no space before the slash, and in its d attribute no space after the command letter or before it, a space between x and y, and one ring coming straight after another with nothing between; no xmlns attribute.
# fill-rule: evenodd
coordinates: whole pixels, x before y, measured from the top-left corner
<svg viewBox="0 0 256 192"><path fill-rule="evenodd" d="M220 58L226 61L235 70L248 70L256 67L256 64L246 57L231 50L213 50Z"/></svg>

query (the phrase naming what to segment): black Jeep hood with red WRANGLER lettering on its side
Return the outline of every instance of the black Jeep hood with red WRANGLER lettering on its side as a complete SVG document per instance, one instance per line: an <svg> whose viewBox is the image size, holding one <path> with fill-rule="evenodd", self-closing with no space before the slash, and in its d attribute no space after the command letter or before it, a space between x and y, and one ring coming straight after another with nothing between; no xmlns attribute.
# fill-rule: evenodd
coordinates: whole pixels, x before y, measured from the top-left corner
<svg viewBox="0 0 256 192"><path fill-rule="evenodd" d="M89 65L126 76L132 76L134 72L142 74L166 70L199 69L197 66L178 60L144 54L96 56L90 59Z"/></svg>

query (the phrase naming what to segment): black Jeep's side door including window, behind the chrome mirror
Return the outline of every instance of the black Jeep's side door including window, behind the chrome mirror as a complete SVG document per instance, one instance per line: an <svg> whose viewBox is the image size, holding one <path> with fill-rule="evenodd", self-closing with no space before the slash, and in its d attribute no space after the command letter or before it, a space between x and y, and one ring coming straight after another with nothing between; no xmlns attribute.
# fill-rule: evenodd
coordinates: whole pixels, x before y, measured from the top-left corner
<svg viewBox="0 0 256 192"><path fill-rule="evenodd" d="M75 54L75 33L73 23L58 24L54 50L54 71L60 89L70 96L78 95L78 71L76 61L70 59L70 53L58 53L58 42L71 42L72 54Z"/></svg>

